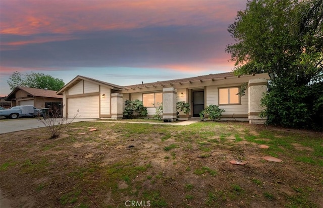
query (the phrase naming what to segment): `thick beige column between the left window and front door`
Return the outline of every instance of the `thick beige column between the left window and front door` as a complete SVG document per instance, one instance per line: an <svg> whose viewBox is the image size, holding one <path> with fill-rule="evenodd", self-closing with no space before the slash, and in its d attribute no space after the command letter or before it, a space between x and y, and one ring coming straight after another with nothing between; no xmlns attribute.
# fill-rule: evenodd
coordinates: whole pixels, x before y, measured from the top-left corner
<svg viewBox="0 0 323 208"><path fill-rule="evenodd" d="M163 119L176 121L176 91L174 88L163 89Z"/></svg>

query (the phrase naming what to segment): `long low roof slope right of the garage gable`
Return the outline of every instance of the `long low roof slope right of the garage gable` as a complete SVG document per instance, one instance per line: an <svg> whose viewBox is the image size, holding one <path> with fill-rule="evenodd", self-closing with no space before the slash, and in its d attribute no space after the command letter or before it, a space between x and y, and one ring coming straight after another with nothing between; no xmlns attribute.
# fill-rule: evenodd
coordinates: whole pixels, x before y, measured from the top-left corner
<svg viewBox="0 0 323 208"><path fill-rule="evenodd" d="M176 79L176 80L167 80L167 81L158 81L153 83L143 83L143 84L137 84L137 85L129 85L125 86L124 88L134 88L138 85L145 87L145 86L153 86L153 85L172 85L175 83L188 83L188 82L194 82L194 81L203 81L203 80L218 80L218 79L224 79L228 77L235 77L235 75L232 72L227 73L220 73L220 74L209 74L209 75L203 75L198 77L190 77L190 78L184 78L184 79Z"/></svg>

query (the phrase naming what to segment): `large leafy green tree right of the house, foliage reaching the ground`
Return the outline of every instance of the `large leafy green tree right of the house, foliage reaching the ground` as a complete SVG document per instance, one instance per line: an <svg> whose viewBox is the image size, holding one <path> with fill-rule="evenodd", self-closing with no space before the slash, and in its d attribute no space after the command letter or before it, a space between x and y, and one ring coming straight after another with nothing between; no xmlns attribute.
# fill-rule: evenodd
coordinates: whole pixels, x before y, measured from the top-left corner
<svg viewBox="0 0 323 208"><path fill-rule="evenodd" d="M262 104L268 123L312 127L322 122L321 0L253 0L237 14L227 46L235 73L268 73ZM319 115L319 117L315 117Z"/></svg>

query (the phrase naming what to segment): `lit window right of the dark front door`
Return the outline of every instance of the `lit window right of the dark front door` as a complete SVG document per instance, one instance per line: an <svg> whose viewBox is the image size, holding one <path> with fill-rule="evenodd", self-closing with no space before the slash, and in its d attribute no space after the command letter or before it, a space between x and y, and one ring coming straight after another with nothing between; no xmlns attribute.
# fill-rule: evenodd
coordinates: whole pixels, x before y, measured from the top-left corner
<svg viewBox="0 0 323 208"><path fill-rule="evenodd" d="M239 87L220 88L219 105L240 104Z"/></svg>

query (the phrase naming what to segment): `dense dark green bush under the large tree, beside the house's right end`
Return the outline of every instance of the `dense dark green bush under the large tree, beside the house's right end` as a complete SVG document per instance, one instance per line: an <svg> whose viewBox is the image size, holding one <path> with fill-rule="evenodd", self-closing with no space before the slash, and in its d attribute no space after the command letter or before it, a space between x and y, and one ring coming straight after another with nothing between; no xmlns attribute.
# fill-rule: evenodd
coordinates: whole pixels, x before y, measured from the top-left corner
<svg viewBox="0 0 323 208"><path fill-rule="evenodd" d="M323 83L297 85L293 78L276 79L261 100L267 124L322 130Z"/></svg>

